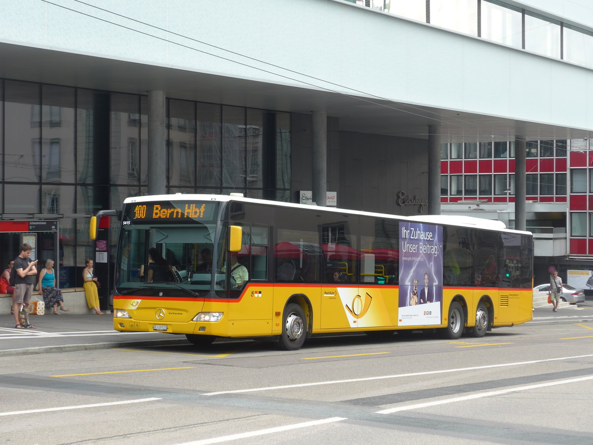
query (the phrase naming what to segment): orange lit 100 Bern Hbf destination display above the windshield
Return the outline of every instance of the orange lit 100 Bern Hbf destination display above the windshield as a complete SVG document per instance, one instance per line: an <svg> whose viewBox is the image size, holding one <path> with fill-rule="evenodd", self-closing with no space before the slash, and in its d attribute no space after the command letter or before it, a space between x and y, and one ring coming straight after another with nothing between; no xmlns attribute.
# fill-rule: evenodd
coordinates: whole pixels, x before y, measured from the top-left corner
<svg viewBox="0 0 593 445"><path fill-rule="evenodd" d="M213 221L217 202L151 201L127 204L123 224L130 222Z"/></svg>

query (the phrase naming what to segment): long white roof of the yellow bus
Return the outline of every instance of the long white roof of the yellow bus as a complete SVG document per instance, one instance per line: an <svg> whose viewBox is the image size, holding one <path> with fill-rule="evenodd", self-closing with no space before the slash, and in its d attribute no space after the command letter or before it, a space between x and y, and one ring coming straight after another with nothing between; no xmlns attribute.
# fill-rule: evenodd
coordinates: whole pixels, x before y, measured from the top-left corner
<svg viewBox="0 0 593 445"><path fill-rule="evenodd" d="M466 217L462 215L415 215L415 216L403 216L403 215L390 215L376 212L366 212L360 210L343 209L338 207L321 207L317 205L305 205L295 204L293 202L282 202L282 201L269 201L266 199L256 198L244 198L243 196L237 195L197 195L193 193L175 193L173 195L148 195L148 196L131 196L126 198L123 203L130 204L133 202L150 202L150 201L218 201L218 202L251 202L253 204L267 204L275 205L279 207L291 207L299 209L309 209L317 211L329 211L329 212L348 212L349 214L366 215L372 217L383 217L383 218L394 218L403 221L411 222L428 222L430 224L439 225L456 225L461 227L471 228L483 228L485 230L496 230L505 231L509 233L519 233L525 235L532 235L528 231L519 231L506 228L506 225L502 221L487 220L486 218Z"/></svg>

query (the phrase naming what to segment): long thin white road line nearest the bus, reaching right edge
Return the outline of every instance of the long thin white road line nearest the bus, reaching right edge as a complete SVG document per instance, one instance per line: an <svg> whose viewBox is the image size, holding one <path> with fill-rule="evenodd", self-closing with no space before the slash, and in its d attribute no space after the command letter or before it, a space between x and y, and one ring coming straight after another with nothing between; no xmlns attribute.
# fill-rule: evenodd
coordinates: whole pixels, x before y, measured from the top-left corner
<svg viewBox="0 0 593 445"><path fill-rule="evenodd" d="M518 361L515 363L501 363L498 365L483 365L483 366L471 366L468 368L443 369L443 370L438 370L438 371L423 371L420 373L394 374L393 376L361 377L359 379L329 380L327 382L297 383L297 384L286 384L286 385L282 385L282 386L268 386L268 387L262 387L262 388L235 389L235 390L229 390L229 391L215 391L215 392L202 393L202 396L216 396L219 394L237 394L237 393L243 393L243 392L256 392L256 391L269 391L269 390L275 390L275 389L301 388L301 387L305 387L305 386L319 386L319 385L323 385L323 384L368 382L370 380L398 379L399 377L429 376L429 375L433 375L433 374L458 373L460 371L474 371L474 370L478 370L478 369L502 368L502 367L508 367L508 366L529 365L529 364L535 364L535 363L545 363L547 361L571 360L573 358L585 358L585 357L593 357L593 354L572 355L570 357L558 357L558 358L544 358L543 360Z"/></svg>

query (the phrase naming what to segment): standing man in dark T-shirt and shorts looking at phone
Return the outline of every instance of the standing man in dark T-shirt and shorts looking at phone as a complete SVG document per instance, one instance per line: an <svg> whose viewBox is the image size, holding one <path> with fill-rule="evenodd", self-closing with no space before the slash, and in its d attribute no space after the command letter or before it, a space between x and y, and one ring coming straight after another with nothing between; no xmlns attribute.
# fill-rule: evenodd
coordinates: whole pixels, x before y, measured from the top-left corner
<svg viewBox="0 0 593 445"><path fill-rule="evenodd" d="M27 323L26 316L19 315L21 307L24 310L24 313L27 313L29 301L31 301L31 294L33 293L33 285L37 278L37 268L35 267L37 260L31 261L29 258L31 250L33 250L33 247L29 244L22 244L21 254L14 259L13 268L17 272L17 275L14 281L15 290L12 310L14 311L14 320L17 322L17 325L15 326L17 329L36 328L36 326Z"/></svg>

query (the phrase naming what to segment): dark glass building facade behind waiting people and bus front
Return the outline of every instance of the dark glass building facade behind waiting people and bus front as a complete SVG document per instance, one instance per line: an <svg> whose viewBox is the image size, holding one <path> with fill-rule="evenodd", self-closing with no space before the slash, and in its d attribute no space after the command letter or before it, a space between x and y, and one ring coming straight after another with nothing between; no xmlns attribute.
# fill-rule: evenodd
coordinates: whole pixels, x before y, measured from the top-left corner
<svg viewBox="0 0 593 445"><path fill-rule="evenodd" d="M1 219L58 220L59 246L47 238L44 250L59 252L60 287L82 285L91 214L148 192L147 107L141 95L0 79ZM168 193L290 200L290 113L174 98L166 109ZM112 243L116 231L111 221Z"/></svg>

